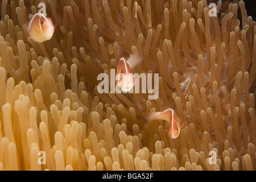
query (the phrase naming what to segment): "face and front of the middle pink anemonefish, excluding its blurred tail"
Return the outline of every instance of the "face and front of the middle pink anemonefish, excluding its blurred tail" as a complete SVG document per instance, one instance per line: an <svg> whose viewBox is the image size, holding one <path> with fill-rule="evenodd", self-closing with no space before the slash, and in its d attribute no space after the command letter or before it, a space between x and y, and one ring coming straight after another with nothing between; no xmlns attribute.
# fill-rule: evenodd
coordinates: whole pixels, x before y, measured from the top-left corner
<svg viewBox="0 0 256 182"><path fill-rule="evenodd" d="M117 84L123 91L129 92L133 88L135 78L129 64L123 58L119 60L117 65L117 77Z"/></svg>

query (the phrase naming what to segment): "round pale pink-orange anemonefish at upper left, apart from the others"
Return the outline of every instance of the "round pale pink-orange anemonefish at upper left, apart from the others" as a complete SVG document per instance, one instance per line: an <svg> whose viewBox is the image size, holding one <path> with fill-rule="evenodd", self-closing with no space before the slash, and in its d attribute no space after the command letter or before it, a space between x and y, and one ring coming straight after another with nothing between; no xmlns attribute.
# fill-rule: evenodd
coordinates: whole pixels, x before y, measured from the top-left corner
<svg viewBox="0 0 256 182"><path fill-rule="evenodd" d="M52 38L54 26L51 18L36 13L28 24L28 34L36 42L45 42Z"/></svg>

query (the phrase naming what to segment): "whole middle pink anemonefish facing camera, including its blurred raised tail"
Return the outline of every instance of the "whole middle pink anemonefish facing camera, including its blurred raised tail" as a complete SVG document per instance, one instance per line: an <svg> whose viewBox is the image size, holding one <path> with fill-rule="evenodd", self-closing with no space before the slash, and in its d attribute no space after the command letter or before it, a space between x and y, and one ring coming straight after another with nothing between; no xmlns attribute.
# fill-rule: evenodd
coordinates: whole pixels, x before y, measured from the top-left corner
<svg viewBox="0 0 256 182"><path fill-rule="evenodd" d="M129 92L135 85L132 69L143 61L143 53L136 52L126 61L123 57L117 65L118 86L125 92Z"/></svg>

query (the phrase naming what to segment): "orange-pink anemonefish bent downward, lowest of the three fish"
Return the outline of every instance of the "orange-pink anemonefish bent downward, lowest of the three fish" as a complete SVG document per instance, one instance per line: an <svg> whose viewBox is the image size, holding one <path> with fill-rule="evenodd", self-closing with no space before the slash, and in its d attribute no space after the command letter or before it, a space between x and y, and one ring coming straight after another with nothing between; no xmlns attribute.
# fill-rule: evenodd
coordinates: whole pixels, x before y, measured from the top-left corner
<svg viewBox="0 0 256 182"><path fill-rule="evenodd" d="M177 117L177 114L175 111L171 108L168 108L162 112L154 112L150 113L147 117L148 121L154 121L157 119L163 119L165 121L169 121L169 133L170 137L175 139L179 137L180 135L180 121L179 118Z"/></svg>

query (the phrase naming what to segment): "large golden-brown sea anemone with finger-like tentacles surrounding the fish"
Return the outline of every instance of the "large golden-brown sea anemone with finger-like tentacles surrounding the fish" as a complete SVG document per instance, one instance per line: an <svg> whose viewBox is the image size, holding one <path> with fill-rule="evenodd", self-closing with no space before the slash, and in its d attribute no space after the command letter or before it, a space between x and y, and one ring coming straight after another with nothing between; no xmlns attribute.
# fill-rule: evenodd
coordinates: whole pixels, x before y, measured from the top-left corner
<svg viewBox="0 0 256 182"><path fill-rule="evenodd" d="M56 26L44 43L23 26L40 2ZM0 170L256 169L256 23L243 1L219 19L205 0L3 0L0 9ZM137 51L133 72L158 73L159 97L98 93L98 75ZM185 123L176 139L167 121L145 119L164 107Z"/></svg>

